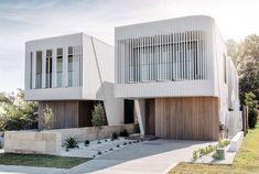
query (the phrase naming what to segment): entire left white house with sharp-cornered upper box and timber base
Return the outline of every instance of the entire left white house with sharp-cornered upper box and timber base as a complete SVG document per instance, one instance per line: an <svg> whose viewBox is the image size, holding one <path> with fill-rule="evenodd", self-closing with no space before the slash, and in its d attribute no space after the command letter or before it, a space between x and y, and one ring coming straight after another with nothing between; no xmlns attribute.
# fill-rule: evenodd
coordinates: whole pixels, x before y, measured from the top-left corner
<svg viewBox="0 0 259 174"><path fill-rule="evenodd" d="M46 105L54 128L91 126L101 102L107 124L125 123L123 100L115 98L115 50L84 33L25 43L25 99L39 101L39 127Z"/></svg>

